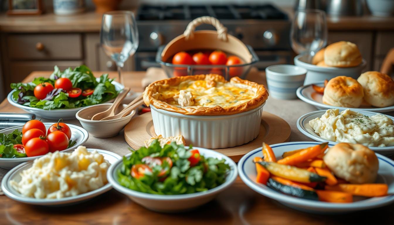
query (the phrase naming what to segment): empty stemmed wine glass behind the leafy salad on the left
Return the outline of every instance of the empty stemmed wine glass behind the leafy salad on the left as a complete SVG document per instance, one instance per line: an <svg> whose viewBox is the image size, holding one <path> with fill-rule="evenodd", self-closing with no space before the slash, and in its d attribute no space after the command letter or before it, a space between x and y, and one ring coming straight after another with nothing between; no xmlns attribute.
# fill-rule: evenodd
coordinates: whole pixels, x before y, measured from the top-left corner
<svg viewBox="0 0 394 225"><path fill-rule="evenodd" d="M138 29L134 13L131 11L111 11L102 16L100 44L104 52L115 61L121 84L125 80L121 74L125 61L138 48Z"/></svg>

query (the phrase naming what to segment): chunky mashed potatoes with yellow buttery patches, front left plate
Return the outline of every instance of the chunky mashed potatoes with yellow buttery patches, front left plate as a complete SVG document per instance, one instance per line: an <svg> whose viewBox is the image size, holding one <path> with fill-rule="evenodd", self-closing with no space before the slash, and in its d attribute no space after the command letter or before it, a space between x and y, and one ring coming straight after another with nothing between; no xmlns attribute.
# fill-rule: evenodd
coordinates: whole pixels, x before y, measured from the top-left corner
<svg viewBox="0 0 394 225"><path fill-rule="evenodd" d="M10 184L26 197L60 199L107 184L109 166L102 154L79 146L73 152L56 151L35 159L32 167L20 173L22 179L11 180Z"/></svg>

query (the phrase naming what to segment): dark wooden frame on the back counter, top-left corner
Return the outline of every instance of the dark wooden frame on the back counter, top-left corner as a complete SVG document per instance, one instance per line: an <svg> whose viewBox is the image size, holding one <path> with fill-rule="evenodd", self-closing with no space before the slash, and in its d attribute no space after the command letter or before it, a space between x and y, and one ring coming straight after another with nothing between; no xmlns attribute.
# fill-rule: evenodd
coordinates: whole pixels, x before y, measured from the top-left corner
<svg viewBox="0 0 394 225"><path fill-rule="evenodd" d="M7 15L40 15L42 13L42 0L8 0Z"/></svg>

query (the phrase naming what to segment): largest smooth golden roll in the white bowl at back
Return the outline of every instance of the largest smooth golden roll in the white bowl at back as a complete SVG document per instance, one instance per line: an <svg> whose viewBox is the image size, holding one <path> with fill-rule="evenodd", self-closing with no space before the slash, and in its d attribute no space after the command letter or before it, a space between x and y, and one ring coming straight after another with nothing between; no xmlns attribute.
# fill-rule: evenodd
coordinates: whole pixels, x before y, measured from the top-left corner
<svg viewBox="0 0 394 225"><path fill-rule="evenodd" d="M355 67L361 64L362 57L356 44L339 41L325 48L324 62L330 67Z"/></svg>

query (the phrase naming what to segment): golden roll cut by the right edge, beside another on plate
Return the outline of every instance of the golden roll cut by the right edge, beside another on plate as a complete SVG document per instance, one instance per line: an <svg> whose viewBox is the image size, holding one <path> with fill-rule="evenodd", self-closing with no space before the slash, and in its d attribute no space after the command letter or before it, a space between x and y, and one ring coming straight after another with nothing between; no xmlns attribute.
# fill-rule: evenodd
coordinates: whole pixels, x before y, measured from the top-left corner
<svg viewBox="0 0 394 225"><path fill-rule="evenodd" d="M394 105L394 81L377 71L368 71L357 79L364 88L364 100L376 107Z"/></svg>

